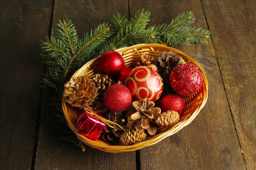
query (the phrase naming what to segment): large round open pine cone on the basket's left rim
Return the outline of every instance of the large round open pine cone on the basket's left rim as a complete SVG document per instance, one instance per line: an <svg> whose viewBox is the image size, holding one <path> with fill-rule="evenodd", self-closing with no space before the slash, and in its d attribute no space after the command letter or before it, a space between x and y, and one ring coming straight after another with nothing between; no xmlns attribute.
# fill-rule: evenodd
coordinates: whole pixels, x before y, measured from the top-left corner
<svg viewBox="0 0 256 170"><path fill-rule="evenodd" d="M94 102L95 97L98 95L97 91L95 83L90 82L88 77L72 77L64 85L63 96L70 105L84 108L84 106L90 106Z"/></svg>

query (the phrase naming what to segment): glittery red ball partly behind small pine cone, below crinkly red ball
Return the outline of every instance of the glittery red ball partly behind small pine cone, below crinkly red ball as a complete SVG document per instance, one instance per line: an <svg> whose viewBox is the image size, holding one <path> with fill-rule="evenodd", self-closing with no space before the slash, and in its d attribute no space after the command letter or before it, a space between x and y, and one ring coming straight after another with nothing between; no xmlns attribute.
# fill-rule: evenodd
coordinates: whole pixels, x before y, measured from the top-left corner
<svg viewBox="0 0 256 170"><path fill-rule="evenodd" d="M177 94L167 94L159 102L159 108L162 112L177 111L181 116L186 110L184 99Z"/></svg>

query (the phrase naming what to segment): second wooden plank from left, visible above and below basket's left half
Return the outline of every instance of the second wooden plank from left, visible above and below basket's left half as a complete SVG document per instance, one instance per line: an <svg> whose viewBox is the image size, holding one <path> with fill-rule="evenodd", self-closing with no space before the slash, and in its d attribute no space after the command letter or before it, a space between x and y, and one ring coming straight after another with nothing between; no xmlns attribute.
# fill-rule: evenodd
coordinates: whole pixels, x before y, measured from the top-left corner
<svg viewBox="0 0 256 170"><path fill-rule="evenodd" d="M56 1L53 34L56 34L55 28L57 28L58 20L68 17L75 24L79 37L83 37L85 32L95 28L99 23L109 21L117 11L128 16L128 1ZM58 139L65 136L64 127L57 123L52 115L55 110L54 106L49 107L51 92L47 89L45 93L35 169L136 169L135 152L105 153L93 148L82 152L80 148L71 146L63 139Z"/></svg>

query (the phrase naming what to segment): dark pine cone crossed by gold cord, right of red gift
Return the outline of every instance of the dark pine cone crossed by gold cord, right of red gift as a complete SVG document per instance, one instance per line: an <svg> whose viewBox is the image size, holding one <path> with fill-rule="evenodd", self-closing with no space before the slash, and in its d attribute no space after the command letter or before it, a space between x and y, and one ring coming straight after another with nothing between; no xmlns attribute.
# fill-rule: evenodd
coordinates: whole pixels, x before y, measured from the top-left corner
<svg viewBox="0 0 256 170"><path fill-rule="evenodd" d="M107 119L121 125L125 130L128 130L128 127L123 125L125 123L125 117L122 116L122 113L108 113ZM118 144L119 136L122 133L124 133L124 130L118 127L111 128L109 126L105 126L104 130L102 131L102 139L110 145Z"/></svg>

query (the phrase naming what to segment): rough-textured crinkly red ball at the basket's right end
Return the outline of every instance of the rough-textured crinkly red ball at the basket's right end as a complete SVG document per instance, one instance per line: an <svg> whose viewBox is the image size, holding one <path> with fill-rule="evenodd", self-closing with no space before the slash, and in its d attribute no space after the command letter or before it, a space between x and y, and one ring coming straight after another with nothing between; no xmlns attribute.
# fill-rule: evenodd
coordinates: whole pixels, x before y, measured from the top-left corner
<svg viewBox="0 0 256 170"><path fill-rule="evenodd" d="M180 95L195 94L202 87L202 82L202 73L193 64L179 64L170 74L170 85Z"/></svg>

